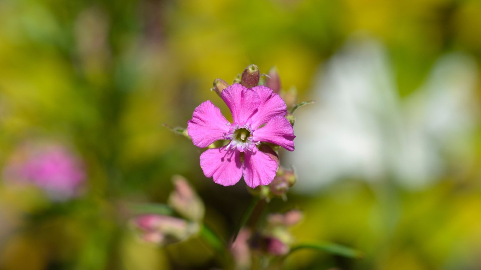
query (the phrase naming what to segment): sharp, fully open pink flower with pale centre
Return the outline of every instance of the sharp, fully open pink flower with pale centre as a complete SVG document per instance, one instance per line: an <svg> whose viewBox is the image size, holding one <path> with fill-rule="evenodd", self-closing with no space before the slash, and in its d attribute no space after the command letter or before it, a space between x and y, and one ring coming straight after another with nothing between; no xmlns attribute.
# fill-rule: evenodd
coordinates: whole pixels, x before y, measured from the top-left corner
<svg viewBox="0 0 481 270"><path fill-rule="evenodd" d="M194 110L187 132L197 147L207 147L217 140L228 139L227 146L208 149L201 155L206 177L224 186L239 182L244 176L252 188L272 182L278 169L277 160L257 149L268 142L294 150L294 131L284 117L286 103L266 86L248 89L234 84L222 91L221 98L232 113L227 121L210 100Z"/></svg>

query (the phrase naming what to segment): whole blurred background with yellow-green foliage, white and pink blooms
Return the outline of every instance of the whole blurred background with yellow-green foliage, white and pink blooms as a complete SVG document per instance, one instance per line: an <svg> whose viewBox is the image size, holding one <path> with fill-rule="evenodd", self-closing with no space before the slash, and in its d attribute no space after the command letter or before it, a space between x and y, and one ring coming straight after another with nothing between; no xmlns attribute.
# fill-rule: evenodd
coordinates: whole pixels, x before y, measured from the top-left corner
<svg viewBox="0 0 481 270"><path fill-rule="evenodd" d="M478 0L0 0L0 269L210 269L199 239L155 248L129 203L184 175L224 237L245 184L203 176L187 125L254 63L299 100L299 251L285 269L481 269Z"/></svg>

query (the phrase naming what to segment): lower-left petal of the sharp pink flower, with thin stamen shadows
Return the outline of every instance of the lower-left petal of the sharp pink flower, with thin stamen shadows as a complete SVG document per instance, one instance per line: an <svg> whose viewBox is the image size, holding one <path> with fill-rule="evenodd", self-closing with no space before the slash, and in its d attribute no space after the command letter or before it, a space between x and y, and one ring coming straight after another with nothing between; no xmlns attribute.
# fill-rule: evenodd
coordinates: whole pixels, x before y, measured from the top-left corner
<svg viewBox="0 0 481 270"><path fill-rule="evenodd" d="M239 182L242 176L240 152L225 147L207 149L201 155L201 168L205 177L214 177L214 182L224 186Z"/></svg>

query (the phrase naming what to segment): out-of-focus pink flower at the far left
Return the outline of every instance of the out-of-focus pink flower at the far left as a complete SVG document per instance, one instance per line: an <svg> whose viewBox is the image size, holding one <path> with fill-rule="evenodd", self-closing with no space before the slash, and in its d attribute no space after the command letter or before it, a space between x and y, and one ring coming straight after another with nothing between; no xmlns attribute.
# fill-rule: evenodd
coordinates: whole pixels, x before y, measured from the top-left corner
<svg viewBox="0 0 481 270"><path fill-rule="evenodd" d="M52 199L63 200L78 195L85 172L81 161L61 145L20 147L3 171L9 182L34 184Z"/></svg>

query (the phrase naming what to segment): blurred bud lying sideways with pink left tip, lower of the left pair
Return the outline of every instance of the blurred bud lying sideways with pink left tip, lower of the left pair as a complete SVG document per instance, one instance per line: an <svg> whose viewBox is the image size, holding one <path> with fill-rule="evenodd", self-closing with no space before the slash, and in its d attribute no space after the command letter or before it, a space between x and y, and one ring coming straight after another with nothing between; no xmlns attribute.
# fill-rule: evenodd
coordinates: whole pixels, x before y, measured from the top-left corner
<svg viewBox="0 0 481 270"><path fill-rule="evenodd" d="M157 245L177 243L199 231L195 223L164 215L142 215L132 224L142 240Z"/></svg>

